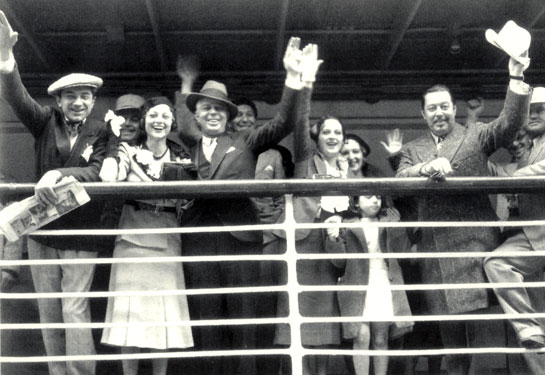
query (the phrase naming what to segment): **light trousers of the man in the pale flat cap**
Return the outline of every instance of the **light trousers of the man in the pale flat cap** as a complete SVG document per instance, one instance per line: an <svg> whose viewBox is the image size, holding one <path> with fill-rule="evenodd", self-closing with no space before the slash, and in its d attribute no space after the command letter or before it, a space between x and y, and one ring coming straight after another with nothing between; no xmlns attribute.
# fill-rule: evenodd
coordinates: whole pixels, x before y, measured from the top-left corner
<svg viewBox="0 0 545 375"><path fill-rule="evenodd" d="M97 252L58 250L28 239L29 259L96 258ZM37 293L88 292L95 273L94 264L30 266ZM39 298L40 323L89 323L91 314L86 297ZM48 356L94 355L95 345L90 328L49 329L42 335ZM95 361L49 362L51 375L92 375Z"/></svg>

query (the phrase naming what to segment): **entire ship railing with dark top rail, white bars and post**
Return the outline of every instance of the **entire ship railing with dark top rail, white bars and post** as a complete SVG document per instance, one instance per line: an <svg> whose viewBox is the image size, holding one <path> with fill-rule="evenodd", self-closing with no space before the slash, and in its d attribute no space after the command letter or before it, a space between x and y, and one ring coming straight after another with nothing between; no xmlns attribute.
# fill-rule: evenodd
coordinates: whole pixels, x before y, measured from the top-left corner
<svg viewBox="0 0 545 375"><path fill-rule="evenodd" d="M286 195L286 220L279 224L270 225L244 225L236 227L180 227L164 229L115 229L115 230L58 230L35 232L35 235L117 235L124 233L195 233L195 232L219 232L219 231L247 231L247 230L271 230L280 229L286 233L287 251L280 255L225 255L225 256L181 256L181 257L157 257L157 258L98 258L79 260L0 260L0 267L7 265L35 265L35 264L61 264L61 263L137 263L137 262L219 262L219 261L283 261L287 263L288 283L280 286L252 286L221 289L185 289L167 291L141 291L141 292L87 292L76 293L80 297L104 298L127 295L202 295L217 293L263 293L263 292L287 292L289 295L290 314L282 318L255 318L251 324L281 324L288 323L291 327L291 347L287 349L253 349L230 351L169 351L166 353L141 353L128 355L95 355L95 356L63 356L63 357L6 357L0 356L1 363L23 362L50 362L50 361L77 361L77 360L120 360L120 359L145 359L145 358L185 358L204 356L245 356L245 355L290 355L292 358L293 374L302 373L302 358L305 355L369 355L369 356L422 356L444 354L481 354L481 353L525 353L543 350L527 350L522 348L490 347L490 348L459 348L459 349L433 349L433 350L317 350L303 348L301 344L300 327L303 323L313 322L349 322L362 321L361 317L331 317L311 318L302 317L299 314L298 294L305 291L339 291L339 290L366 290L367 286L332 286L332 285L299 285L297 283L296 262L303 259L333 259L333 258L458 258L478 257L484 258L487 252L443 252L443 253L379 253L379 254L300 254L295 249L295 231L302 228L327 228L327 227L351 227L357 224L314 224L296 223L293 218L292 195L322 196L322 195L435 195L435 194L474 194L477 192L495 193L543 193L545 192L545 178L498 178L498 177L464 177L448 178L445 181L431 181L424 178L381 178L359 180L238 180L238 181L191 181L191 182L153 182L153 183L84 183L91 199L112 199L122 196L124 199L150 199L150 198L209 198L209 197L253 197ZM20 199L33 193L33 184L0 184L1 199ZM521 221L477 221L477 222L377 222L370 225L379 227L492 227L492 226L521 226L521 225L545 225L545 220L521 222ZM502 256L542 256L539 252L502 252ZM545 253L543 254L545 255ZM437 289L471 289L471 288L509 288L521 287L519 283L479 283L479 284L405 284L391 285L392 290L416 291ZM545 282L525 282L527 288L544 288ZM72 293L0 293L2 299L36 299L36 298L69 298ZM545 318L545 313L516 315L517 318L532 316ZM478 321L478 320L508 320L515 315L508 314L459 314L459 315L419 315L396 316L396 321ZM391 319L388 319L391 320ZM374 321L381 321L376 319ZM224 319L224 320L198 320L180 322L146 322L138 325L243 325L248 324L248 319ZM132 323L135 324L135 323ZM120 325L119 323L52 323L48 328L104 328ZM127 325L125 323L121 325ZM2 330L25 330L44 328L44 324L20 323L0 324Z"/></svg>

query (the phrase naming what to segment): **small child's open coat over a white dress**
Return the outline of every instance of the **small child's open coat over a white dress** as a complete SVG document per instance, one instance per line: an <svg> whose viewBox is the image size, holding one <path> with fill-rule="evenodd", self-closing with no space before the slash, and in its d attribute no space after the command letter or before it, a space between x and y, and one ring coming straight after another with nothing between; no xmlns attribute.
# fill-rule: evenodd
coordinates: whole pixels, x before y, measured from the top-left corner
<svg viewBox="0 0 545 375"><path fill-rule="evenodd" d="M392 221L391 216L383 216L380 221ZM358 223L358 218L346 219L346 223ZM409 241L403 228L379 228L379 244L382 252L408 251ZM362 228L346 228L338 241L329 238L325 244L329 253L366 253L367 240ZM368 259L332 259L333 264L344 270L339 279L339 285L368 285L369 284L369 260ZM401 267L396 259L387 259L388 277L393 285L404 284ZM365 291L339 291L337 299L341 316L362 316L365 308ZM404 291L392 291L394 315L411 315L407 294ZM345 339L353 339L358 335L361 323L343 323L343 336ZM413 322L394 322L390 330L390 338L397 338L412 329Z"/></svg>

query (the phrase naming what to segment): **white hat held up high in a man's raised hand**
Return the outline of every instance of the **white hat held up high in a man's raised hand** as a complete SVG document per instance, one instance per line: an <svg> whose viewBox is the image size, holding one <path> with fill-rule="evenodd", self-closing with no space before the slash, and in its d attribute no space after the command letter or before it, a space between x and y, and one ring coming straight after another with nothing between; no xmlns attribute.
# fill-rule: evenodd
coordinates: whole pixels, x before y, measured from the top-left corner
<svg viewBox="0 0 545 375"><path fill-rule="evenodd" d="M530 33L517 25L514 21L507 21L499 33L492 29L486 30L486 40L498 47L521 64L527 64L530 59L521 56L530 48L532 37Z"/></svg>

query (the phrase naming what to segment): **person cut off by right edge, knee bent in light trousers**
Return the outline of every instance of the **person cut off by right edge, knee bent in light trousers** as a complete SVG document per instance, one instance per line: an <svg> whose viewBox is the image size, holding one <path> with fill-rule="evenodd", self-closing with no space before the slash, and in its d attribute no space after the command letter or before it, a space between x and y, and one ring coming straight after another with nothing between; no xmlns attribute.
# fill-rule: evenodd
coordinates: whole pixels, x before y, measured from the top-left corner
<svg viewBox="0 0 545 375"><path fill-rule="evenodd" d="M530 116L524 129L532 139L530 152L519 162L513 176L545 175L545 87L536 87L530 102ZM519 220L543 220L545 196L518 194ZM533 274L543 271L545 257L502 256L502 252L545 250L545 227L525 226L509 237L493 254L484 260L484 269L492 283L528 281ZM526 288L494 289L498 301L507 314L536 313ZM509 320L522 347L545 347L545 332L535 318Z"/></svg>

